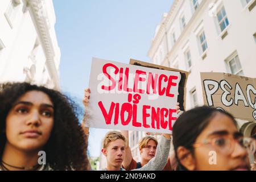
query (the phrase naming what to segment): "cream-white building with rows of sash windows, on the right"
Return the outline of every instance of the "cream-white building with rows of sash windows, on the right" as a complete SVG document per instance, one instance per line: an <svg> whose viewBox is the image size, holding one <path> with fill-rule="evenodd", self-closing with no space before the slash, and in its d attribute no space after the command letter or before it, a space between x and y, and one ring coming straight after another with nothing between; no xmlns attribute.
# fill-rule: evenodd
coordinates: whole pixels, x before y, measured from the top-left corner
<svg viewBox="0 0 256 182"><path fill-rule="evenodd" d="M255 5L255 0L174 0L163 15L148 57L153 64L189 72L186 110L204 105L200 72L256 77ZM240 120L238 124L247 135L256 126ZM140 133L129 133L137 161L138 140L144 136Z"/></svg>

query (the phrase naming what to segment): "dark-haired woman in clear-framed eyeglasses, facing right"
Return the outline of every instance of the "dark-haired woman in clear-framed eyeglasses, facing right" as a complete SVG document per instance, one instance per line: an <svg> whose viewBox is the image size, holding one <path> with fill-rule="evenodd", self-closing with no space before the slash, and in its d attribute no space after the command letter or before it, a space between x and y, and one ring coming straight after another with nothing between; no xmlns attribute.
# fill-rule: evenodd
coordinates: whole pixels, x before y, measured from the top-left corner
<svg viewBox="0 0 256 182"><path fill-rule="evenodd" d="M179 170L250 170L253 138L243 137L226 111L207 106L186 111L177 118L172 137Z"/></svg>

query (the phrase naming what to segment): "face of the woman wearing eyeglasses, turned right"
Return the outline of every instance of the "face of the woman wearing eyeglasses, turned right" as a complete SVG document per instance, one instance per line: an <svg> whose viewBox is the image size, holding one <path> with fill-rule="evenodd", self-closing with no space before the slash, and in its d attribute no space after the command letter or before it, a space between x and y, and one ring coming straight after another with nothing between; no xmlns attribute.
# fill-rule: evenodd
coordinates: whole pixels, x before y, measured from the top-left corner
<svg viewBox="0 0 256 182"><path fill-rule="evenodd" d="M204 143L205 139L214 141L213 144L203 144L194 148L195 170L246 170L249 169L247 151L237 140L233 147L224 148L225 138L241 138L232 118L222 113L216 113L209 125L197 137L195 143ZM226 143L226 142L225 142Z"/></svg>

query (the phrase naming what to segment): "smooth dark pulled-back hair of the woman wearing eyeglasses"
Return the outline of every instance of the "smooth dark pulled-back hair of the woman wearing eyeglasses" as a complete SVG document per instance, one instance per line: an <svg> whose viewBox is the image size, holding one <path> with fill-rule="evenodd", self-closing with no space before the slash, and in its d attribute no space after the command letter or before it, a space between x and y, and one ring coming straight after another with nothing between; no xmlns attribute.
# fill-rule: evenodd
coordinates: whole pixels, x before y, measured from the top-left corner
<svg viewBox="0 0 256 182"><path fill-rule="evenodd" d="M179 118L177 118L172 130L172 137L178 168L180 170L186 170L186 168L180 164L179 159L177 158L177 148L179 146L183 146L193 154L192 145L196 142L197 137L205 127L209 125L214 115L218 112L230 117L234 122L234 125L237 127L237 122L233 115L226 111L207 106L196 107L195 109L185 111Z"/></svg>

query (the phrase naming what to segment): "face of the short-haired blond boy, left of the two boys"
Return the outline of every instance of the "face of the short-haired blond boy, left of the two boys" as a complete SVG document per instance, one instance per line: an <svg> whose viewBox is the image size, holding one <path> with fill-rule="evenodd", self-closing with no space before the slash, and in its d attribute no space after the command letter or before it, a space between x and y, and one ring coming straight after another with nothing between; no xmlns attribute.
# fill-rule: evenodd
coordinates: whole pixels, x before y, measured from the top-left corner
<svg viewBox="0 0 256 182"><path fill-rule="evenodd" d="M108 165L121 167L125 155L125 141L117 139L110 142L106 149L102 149L102 153L106 156Z"/></svg>

